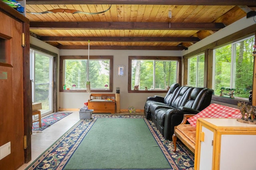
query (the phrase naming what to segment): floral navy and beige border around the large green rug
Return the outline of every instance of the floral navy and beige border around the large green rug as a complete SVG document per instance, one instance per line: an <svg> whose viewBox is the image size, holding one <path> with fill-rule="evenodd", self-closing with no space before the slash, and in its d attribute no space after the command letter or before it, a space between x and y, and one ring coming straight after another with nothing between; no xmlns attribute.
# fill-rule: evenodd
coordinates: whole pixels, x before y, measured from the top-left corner
<svg viewBox="0 0 256 170"><path fill-rule="evenodd" d="M98 118L144 119L152 135L154 136L154 139L162 149L163 154L166 156L166 160L168 160L170 166L172 166L174 170L194 170L194 156L178 141L177 151L173 152L172 150L174 149L174 146L172 141L164 139L160 132L156 130L154 123L147 120L144 115L93 115L92 117L93 119L82 119L78 121L51 147L49 147L43 154L34 160L34 162L32 162L25 170L61 170L64 168L76 148L80 145L80 142L84 139L85 135Z"/></svg>

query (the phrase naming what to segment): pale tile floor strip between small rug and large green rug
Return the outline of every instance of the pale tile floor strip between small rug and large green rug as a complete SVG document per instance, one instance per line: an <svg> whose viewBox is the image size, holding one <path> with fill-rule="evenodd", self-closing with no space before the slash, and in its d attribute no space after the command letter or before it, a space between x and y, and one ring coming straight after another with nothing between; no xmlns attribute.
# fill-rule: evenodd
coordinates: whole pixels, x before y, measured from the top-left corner
<svg viewBox="0 0 256 170"><path fill-rule="evenodd" d="M63 111L64 112L64 111ZM32 133L31 150L32 160L27 164L23 164L18 170L24 170L29 166L40 154L50 147L57 139L59 139L68 129L79 121L79 112L73 111L70 115L50 125L42 133Z"/></svg>

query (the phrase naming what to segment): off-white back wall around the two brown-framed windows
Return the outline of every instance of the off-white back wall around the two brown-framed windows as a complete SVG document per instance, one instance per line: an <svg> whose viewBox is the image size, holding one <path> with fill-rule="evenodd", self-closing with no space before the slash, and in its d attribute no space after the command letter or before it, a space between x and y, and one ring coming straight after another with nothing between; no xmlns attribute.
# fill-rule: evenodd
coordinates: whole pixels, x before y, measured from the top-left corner
<svg viewBox="0 0 256 170"><path fill-rule="evenodd" d="M60 50L60 55L88 55L88 50ZM120 109L144 109L148 96L165 96L164 93L128 93L128 56L181 56L181 51L148 51L148 50L90 50L92 55L114 56L113 93L120 87ZM124 76L117 76L117 66L124 65ZM80 108L89 99L88 93L60 92L60 108Z"/></svg>

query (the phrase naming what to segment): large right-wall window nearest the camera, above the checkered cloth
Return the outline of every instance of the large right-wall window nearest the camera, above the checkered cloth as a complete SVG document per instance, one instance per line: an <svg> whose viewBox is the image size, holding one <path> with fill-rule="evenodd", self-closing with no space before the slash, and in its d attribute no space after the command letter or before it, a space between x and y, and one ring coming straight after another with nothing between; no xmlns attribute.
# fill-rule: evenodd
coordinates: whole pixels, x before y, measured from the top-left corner
<svg viewBox="0 0 256 170"><path fill-rule="evenodd" d="M215 95L220 95L221 88L230 88L235 98L248 99L253 80L253 45L254 37L249 37L214 50Z"/></svg>

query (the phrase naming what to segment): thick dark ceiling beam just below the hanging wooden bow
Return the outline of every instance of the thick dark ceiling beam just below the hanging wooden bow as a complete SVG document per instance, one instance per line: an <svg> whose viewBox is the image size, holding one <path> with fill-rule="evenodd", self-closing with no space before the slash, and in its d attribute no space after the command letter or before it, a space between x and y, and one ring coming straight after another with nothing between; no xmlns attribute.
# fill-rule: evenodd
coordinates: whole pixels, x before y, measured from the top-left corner
<svg viewBox="0 0 256 170"><path fill-rule="evenodd" d="M144 30L212 30L224 28L223 23L169 22L30 22L30 29L144 29Z"/></svg>

